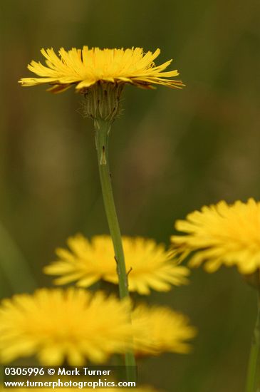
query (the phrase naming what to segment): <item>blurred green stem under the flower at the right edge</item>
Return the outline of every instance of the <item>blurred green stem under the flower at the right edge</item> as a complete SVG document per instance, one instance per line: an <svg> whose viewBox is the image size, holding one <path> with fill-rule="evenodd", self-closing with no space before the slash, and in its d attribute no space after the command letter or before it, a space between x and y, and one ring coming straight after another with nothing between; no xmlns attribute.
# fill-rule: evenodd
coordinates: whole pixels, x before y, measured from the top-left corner
<svg viewBox="0 0 260 392"><path fill-rule="evenodd" d="M260 392L260 290L258 289L258 310L254 328L249 367L246 380L246 392Z"/></svg>

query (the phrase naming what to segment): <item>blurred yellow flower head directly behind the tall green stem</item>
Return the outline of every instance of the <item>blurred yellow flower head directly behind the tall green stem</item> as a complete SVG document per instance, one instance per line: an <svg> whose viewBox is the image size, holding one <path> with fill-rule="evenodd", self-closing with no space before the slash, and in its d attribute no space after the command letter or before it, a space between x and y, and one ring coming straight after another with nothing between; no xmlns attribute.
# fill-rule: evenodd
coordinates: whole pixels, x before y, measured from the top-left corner
<svg viewBox="0 0 260 392"><path fill-rule="evenodd" d="M55 284L76 281L79 287L89 287L103 279L118 284L113 243L109 236L100 235L90 241L83 235L68 238L67 249L57 249L59 260L44 268L46 274L59 275ZM125 263L130 292L150 294L150 289L167 292L171 284L187 283L189 269L170 259L163 244L153 239L123 237Z"/></svg>

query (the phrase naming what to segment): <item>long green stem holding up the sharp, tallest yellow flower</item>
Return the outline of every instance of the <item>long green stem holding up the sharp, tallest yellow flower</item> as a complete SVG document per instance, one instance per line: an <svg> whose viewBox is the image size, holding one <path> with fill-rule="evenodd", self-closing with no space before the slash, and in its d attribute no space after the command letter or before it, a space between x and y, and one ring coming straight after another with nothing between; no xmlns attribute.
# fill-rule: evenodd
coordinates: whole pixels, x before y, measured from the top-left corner
<svg viewBox="0 0 260 392"><path fill-rule="evenodd" d="M110 169L108 163L108 138L111 124L105 120L95 120L95 144L98 153L98 169L103 193L105 213L108 220L111 238L115 252L115 262L117 264L119 296L120 299L129 297L128 274L125 269L125 257L118 223L118 215L115 210L113 190L110 180ZM130 314L129 314L130 317ZM127 366L128 381L135 381L135 356L132 351L125 354L125 366Z"/></svg>

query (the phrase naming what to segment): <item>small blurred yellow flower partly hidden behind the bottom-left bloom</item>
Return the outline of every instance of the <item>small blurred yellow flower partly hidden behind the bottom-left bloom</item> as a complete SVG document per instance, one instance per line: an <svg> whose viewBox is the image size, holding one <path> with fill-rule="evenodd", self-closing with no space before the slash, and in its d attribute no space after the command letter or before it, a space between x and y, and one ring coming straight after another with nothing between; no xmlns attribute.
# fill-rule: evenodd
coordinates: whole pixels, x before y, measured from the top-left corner
<svg viewBox="0 0 260 392"><path fill-rule="evenodd" d="M186 354L190 351L187 341L196 335L186 316L165 306L137 306L132 326L138 331L134 335L135 354L141 356L165 351Z"/></svg>

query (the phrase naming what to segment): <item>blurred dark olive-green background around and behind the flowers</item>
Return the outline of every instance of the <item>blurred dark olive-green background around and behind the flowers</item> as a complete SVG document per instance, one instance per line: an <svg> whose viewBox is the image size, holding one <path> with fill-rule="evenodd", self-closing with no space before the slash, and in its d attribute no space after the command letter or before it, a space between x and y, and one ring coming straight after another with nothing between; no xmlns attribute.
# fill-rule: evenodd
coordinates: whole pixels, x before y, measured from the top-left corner
<svg viewBox="0 0 260 392"><path fill-rule="evenodd" d="M49 286L43 265L76 232L107 233L93 125L80 96L21 88L40 49L161 48L187 87L127 86L110 138L124 234L169 242L176 219L221 199L260 197L259 1L1 0L1 296ZM147 300L189 315L189 355L140 363L166 391L244 391L254 292L235 269L192 272L188 287Z"/></svg>

